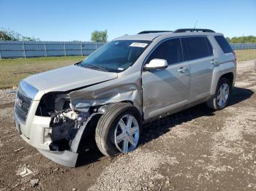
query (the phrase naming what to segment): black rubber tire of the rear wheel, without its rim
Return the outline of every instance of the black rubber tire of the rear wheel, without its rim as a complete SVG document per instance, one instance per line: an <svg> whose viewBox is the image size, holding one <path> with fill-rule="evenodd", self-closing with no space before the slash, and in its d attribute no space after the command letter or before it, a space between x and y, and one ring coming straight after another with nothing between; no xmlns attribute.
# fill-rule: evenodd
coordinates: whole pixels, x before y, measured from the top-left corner
<svg viewBox="0 0 256 191"><path fill-rule="evenodd" d="M228 95L228 98L227 98L227 101L225 102L225 104L222 105L222 106L219 106L219 104L217 104L217 94L218 94L218 91L219 91L219 87L221 87L225 83L229 87L229 95ZM215 90L215 94L211 97L211 99L209 101L206 102L206 104L210 109L213 109L215 111L220 110L220 109L224 109L227 106L228 101L230 100L231 93L232 93L232 86L231 86L230 80L225 78L225 77L222 77L221 79L219 79L217 88Z"/></svg>

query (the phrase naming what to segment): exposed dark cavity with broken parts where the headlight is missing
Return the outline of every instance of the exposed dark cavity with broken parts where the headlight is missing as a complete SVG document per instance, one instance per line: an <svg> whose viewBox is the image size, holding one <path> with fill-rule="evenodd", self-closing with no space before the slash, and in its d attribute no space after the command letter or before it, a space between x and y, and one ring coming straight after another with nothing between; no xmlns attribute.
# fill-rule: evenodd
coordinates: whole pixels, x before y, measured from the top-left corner
<svg viewBox="0 0 256 191"><path fill-rule="evenodd" d="M50 128L44 129L44 143L49 144L50 150L70 149L78 130L91 115L90 107L89 103L79 103L73 108L65 93L48 93L42 97L36 114L50 117Z"/></svg>

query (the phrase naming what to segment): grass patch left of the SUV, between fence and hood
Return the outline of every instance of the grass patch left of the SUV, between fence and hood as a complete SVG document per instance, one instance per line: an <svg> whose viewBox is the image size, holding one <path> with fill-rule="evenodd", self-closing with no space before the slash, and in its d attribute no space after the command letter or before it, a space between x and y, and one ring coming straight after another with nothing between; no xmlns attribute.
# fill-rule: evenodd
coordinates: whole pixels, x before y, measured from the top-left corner
<svg viewBox="0 0 256 191"><path fill-rule="evenodd" d="M17 86L20 79L42 71L68 66L85 56L15 58L0 60L0 89Z"/></svg>

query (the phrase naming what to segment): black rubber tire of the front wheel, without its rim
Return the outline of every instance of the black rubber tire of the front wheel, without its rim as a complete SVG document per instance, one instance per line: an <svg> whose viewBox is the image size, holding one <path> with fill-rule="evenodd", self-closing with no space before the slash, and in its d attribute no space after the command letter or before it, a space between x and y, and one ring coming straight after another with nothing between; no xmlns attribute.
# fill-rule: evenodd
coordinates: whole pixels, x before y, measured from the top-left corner
<svg viewBox="0 0 256 191"><path fill-rule="evenodd" d="M113 157L118 155L120 151L116 148L114 141L114 131L118 120L126 114L131 114L138 121L141 129L141 116L138 109L132 104L118 103L110 106L105 114L99 118L97 128L95 130L95 140L97 147L103 155Z"/></svg>

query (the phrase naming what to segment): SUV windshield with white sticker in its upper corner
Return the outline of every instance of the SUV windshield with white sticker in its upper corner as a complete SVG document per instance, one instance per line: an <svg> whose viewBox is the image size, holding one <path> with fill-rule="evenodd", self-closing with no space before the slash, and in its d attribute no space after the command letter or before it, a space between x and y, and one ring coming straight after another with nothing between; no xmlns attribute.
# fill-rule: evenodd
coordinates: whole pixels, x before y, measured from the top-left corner
<svg viewBox="0 0 256 191"><path fill-rule="evenodd" d="M112 41L89 55L80 66L102 71L121 72L132 66L150 41Z"/></svg>

